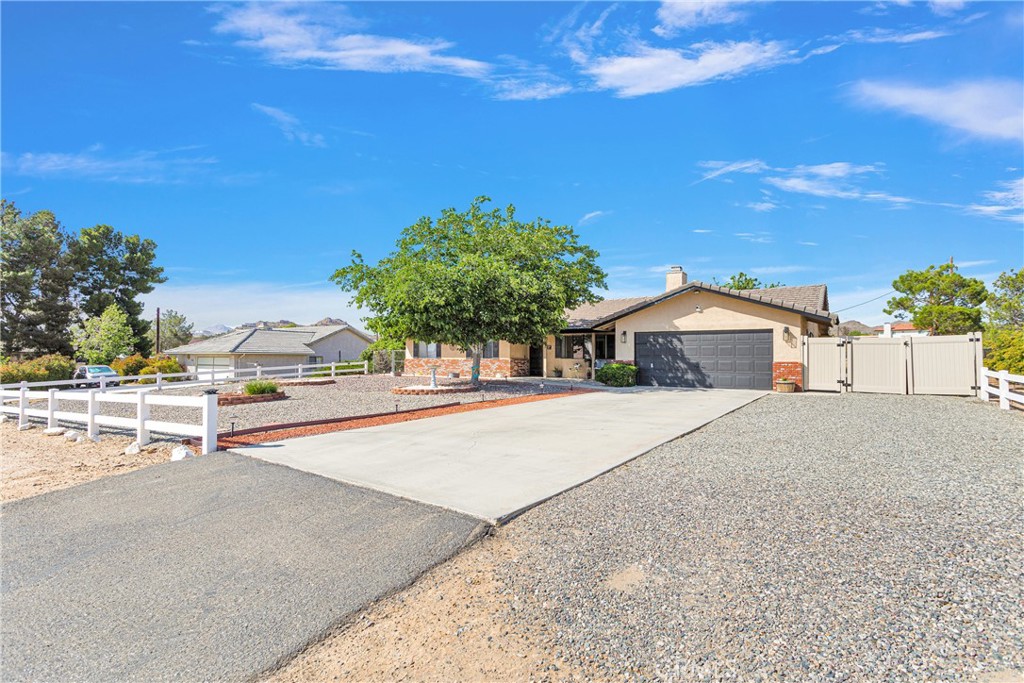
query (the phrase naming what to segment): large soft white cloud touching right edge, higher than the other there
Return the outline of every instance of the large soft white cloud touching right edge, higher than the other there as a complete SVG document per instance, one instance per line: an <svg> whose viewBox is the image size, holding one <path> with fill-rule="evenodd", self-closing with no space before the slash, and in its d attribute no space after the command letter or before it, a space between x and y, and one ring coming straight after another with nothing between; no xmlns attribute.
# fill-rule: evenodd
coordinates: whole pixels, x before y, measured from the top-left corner
<svg viewBox="0 0 1024 683"><path fill-rule="evenodd" d="M860 81L853 91L866 105L928 119L975 137L1024 139L1024 85L1019 81L964 81L939 87Z"/></svg>

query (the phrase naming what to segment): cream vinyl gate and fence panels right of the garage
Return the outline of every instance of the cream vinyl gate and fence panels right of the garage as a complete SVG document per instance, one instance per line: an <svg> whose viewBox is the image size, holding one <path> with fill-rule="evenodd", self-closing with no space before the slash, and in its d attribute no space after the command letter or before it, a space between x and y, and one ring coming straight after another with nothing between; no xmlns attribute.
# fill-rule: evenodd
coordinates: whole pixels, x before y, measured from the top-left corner
<svg viewBox="0 0 1024 683"><path fill-rule="evenodd" d="M977 395L981 333L941 337L805 337L804 389Z"/></svg>

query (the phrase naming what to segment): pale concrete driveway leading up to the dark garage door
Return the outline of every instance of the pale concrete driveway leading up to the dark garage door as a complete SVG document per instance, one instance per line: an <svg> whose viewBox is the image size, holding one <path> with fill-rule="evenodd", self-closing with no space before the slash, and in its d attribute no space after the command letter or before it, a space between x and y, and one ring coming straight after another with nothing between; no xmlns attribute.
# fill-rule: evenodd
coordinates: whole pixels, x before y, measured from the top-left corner
<svg viewBox="0 0 1024 683"><path fill-rule="evenodd" d="M765 393L582 393L236 453L502 522Z"/></svg>

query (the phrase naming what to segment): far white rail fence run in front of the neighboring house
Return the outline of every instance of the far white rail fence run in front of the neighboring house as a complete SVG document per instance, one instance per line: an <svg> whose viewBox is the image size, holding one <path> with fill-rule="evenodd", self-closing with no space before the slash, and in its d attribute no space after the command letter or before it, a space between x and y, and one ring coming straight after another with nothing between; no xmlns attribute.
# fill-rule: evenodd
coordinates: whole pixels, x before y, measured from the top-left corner
<svg viewBox="0 0 1024 683"><path fill-rule="evenodd" d="M90 385L100 392L108 391L134 391L139 388L156 388L158 391L170 384L173 387L187 387L197 384L229 383L247 381L254 379L295 379L306 378L323 374L325 377L341 377L344 375L366 375L369 372L367 360L349 360L338 362L315 362L300 364L297 366L275 366L272 368L202 368L189 373L157 373L155 375L129 375L127 377L106 378L101 377L95 380L57 380L53 382L20 382L17 384L3 384L0 389L19 389L23 386L30 389L38 387L68 387L75 388L83 385ZM125 382L144 381L145 384L129 384ZM117 386L114 385L117 383Z"/></svg>

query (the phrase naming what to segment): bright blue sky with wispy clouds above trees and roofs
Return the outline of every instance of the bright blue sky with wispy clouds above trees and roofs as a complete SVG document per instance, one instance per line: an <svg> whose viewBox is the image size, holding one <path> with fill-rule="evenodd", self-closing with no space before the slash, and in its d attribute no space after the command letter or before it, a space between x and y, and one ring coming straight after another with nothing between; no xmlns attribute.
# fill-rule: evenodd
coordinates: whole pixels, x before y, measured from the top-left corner
<svg viewBox="0 0 1024 683"><path fill-rule="evenodd" d="M159 244L151 308L356 321L352 249L478 195L577 227L606 296L669 264L825 283L1024 261L1024 5L30 3L3 196ZM885 298L841 311L881 322Z"/></svg>

